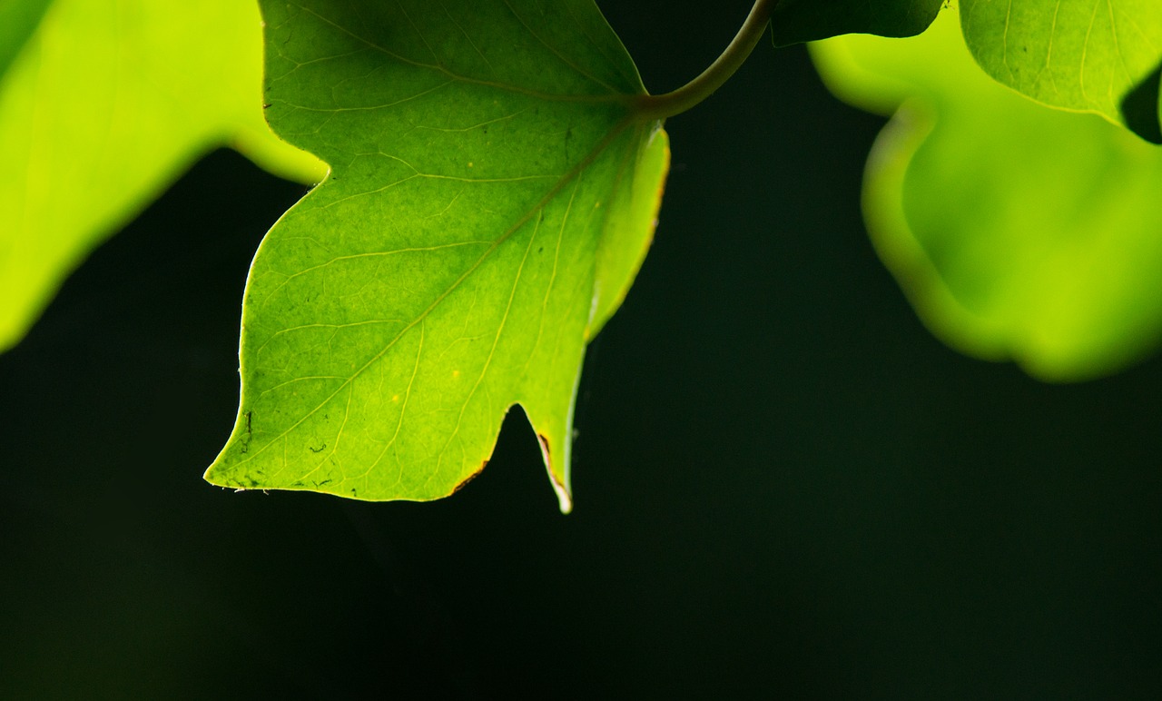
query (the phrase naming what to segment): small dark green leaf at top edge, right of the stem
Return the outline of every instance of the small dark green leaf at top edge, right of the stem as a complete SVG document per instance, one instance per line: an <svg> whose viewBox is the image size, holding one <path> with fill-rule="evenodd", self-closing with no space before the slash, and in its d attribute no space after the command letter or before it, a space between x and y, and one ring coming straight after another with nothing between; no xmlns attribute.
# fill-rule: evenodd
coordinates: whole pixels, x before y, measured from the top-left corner
<svg viewBox="0 0 1162 701"><path fill-rule="evenodd" d="M841 34L912 36L924 31L945 0L781 0L772 13L775 44L786 47Z"/></svg>

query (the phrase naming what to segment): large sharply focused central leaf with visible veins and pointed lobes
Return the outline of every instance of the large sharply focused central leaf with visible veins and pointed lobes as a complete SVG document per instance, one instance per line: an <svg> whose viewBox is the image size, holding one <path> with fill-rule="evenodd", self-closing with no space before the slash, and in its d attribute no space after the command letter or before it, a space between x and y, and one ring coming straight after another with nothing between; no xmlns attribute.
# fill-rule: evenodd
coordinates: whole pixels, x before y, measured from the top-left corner
<svg viewBox="0 0 1162 701"><path fill-rule="evenodd" d="M668 163L630 57L591 0L261 7L267 119L331 174L259 248L207 479L437 499L519 403L568 510L584 346Z"/></svg>

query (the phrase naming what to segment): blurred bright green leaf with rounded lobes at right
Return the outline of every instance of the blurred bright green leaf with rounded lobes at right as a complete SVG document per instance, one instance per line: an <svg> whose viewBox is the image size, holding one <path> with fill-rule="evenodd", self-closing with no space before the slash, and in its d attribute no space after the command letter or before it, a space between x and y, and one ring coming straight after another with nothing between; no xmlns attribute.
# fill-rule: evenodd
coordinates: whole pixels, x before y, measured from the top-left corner
<svg viewBox="0 0 1162 701"><path fill-rule="evenodd" d="M839 37L812 52L839 96L895 112L868 163L865 214L939 337L1053 380L1154 349L1162 149L990 80L954 12L919 37Z"/></svg>

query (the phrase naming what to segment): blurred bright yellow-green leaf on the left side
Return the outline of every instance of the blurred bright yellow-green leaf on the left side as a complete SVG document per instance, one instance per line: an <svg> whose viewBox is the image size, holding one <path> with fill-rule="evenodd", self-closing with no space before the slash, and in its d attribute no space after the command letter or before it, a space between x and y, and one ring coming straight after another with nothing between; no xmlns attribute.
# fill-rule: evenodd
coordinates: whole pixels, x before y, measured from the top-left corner
<svg viewBox="0 0 1162 701"><path fill-rule="evenodd" d="M0 350L88 251L209 149L232 145L278 174L322 178L316 159L266 127L260 85L253 2L48 8L0 78Z"/></svg>

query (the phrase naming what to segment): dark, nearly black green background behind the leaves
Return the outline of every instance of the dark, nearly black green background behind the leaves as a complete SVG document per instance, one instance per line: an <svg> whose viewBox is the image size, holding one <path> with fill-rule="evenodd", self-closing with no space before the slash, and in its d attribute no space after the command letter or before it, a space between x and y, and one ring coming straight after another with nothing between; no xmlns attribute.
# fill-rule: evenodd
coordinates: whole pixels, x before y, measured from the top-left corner
<svg viewBox="0 0 1162 701"><path fill-rule="evenodd" d="M662 92L747 6L603 9ZM1159 698L1162 363L933 339L860 222L881 123L769 43L670 121L569 516L519 412L440 502L202 482L303 194L209 156L0 357L0 698Z"/></svg>

